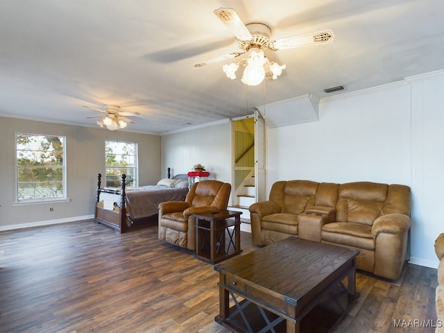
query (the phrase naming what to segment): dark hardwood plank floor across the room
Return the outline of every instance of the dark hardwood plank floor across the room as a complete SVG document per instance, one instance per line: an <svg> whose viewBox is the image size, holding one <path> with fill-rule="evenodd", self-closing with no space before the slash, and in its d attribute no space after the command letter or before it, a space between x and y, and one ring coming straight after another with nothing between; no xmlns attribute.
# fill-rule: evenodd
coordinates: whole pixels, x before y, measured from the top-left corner
<svg viewBox="0 0 444 333"><path fill-rule="evenodd" d="M241 232L244 253L257 249ZM229 332L218 273L157 239L157 222L124 234L93 221L0 232L0 332ZM436 269L397 281L357 274L360 297L332 332L434 332Z"/></svg>

